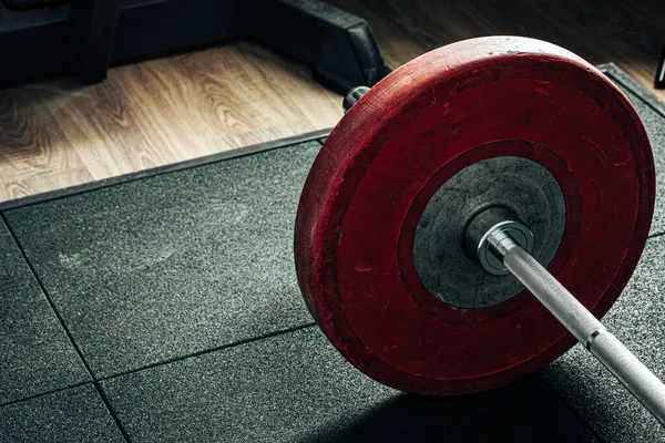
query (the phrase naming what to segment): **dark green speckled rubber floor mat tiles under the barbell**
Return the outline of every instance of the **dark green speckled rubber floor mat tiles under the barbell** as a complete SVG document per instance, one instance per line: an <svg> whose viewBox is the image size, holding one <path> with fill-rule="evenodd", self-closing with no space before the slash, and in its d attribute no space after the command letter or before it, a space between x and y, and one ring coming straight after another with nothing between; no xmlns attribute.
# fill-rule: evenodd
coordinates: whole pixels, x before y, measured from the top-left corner
<svg viewBox="0 0 665 443"><path fill-rule="evenodd" d="M665 379L665 112L604 70L637 107L659 181L652 238L604 321ZM2 205L0 442L665 442L579 348L458 399L346 363L291 256L324 135Z"/></svg>

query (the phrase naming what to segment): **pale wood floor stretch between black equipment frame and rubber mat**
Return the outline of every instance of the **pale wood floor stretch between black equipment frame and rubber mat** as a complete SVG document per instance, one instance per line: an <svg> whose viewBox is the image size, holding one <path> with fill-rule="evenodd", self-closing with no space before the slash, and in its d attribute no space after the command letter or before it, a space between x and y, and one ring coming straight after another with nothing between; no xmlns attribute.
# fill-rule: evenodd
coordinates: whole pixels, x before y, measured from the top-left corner
<svg viewBox="0 0 665 443"><path fill-rule="evenodd" d="M331 127L340 103L248 42L3 91L0 200Z"/></svg>

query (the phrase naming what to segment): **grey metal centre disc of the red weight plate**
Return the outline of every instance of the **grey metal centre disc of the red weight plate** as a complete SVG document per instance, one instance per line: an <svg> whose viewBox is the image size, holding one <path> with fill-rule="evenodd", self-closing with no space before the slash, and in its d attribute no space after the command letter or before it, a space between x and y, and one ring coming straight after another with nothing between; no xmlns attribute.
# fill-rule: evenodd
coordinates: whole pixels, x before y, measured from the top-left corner
<svg viewBox="0 0 665 443"><path fill-rule="evenodd" d="M565 228L561 187L543 166L523 157L474 163L446 182L427 204L413 240L416 269L439 300L459 308L485 308L524 287L516 278L485 272L463 249L467 225L481 210L512 209L533 233L533 257L546 267Z"/></svg>

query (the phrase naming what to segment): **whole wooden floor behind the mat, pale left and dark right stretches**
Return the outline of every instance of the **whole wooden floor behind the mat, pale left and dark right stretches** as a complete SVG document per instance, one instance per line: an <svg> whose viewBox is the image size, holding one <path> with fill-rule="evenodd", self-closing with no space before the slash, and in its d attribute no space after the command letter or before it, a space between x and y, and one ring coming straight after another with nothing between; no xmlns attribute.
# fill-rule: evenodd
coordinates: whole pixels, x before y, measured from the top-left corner
<svg viewBox="0 0 665 443"><path fill-rule="evenodd" d="M614 62L652 87L665 45L662 1L331 3L370 22L391 68L457 40L519 34ZM96 85L2 91L0 200L331 127L340 100L303 66L247 42L114 68Z"/></svg>

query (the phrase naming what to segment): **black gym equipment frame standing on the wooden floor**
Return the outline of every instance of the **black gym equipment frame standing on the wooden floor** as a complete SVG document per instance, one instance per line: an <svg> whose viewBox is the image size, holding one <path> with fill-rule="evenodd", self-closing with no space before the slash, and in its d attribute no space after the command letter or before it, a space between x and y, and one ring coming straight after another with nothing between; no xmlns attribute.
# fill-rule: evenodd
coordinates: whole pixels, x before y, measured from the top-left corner
<svg viewBox="0 0 665 443"><path fill-rule="evenodd" d="M388 72L367 21L318 0L2 0L0 85L57 75L103 81L111 65L254 40L331 90Z"/></svg>

